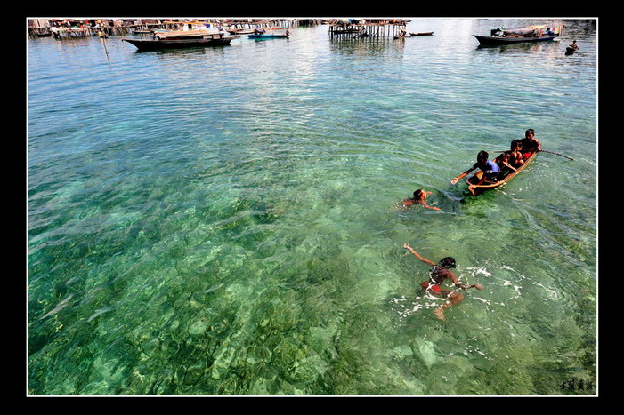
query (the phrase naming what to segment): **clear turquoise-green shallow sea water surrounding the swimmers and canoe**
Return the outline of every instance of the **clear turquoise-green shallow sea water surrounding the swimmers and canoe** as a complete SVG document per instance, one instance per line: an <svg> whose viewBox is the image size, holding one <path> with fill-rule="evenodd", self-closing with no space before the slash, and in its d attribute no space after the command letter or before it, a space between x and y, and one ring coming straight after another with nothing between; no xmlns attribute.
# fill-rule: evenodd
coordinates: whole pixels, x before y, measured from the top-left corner
<svg viewBox="0 0 624 415"><path fill-rule="evenodd" d="M28 39L28 393L596 394L596 25L472 36L532 22ZM526 128L575 160L450 185ZM484 290L435 319L403 243Z"/></svg>

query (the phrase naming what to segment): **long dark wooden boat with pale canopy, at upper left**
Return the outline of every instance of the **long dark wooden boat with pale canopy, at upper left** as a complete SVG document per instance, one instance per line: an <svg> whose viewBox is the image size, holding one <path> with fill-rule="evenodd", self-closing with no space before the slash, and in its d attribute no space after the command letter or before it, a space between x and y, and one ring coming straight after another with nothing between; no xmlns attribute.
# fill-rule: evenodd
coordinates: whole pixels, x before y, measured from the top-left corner
<svg viewBox="0 0 624 415"><path fill-rule="evenodd" d="M154 32L151 39L121 39L134 44L140 51L158 49L180 49L202 46L223 46L230 44L234 36L223 33L210 33L205 30L189 30L181 32Z"/></svg>

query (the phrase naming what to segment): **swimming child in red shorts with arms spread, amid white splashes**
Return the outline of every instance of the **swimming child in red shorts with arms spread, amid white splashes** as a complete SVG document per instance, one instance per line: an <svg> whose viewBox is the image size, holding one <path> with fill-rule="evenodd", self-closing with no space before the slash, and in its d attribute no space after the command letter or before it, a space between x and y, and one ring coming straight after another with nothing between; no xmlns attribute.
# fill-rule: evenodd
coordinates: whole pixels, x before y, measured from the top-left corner
<svg viewBox="0 0 624 415"><path fill-rule="evenodd" d="M431 272L429 273L429 281L423 281L422 283L420 283L420 287L423 291L427 291L433 295L442 296L448 299L448 301L445 302L442 307L438 307L434 310L434 315L440 320L446 319L446 316L444 315L444 310L446 308L457 306L460 302L464 300L464 294L462 294L461 292L443 289L441 285L444 281L449 280L451 283L453 283L454 286L461 288L462 290L468 290L470 288L476 288L477 290L483 289L483 286L478 283L470 285L468 283L459 281L457 275L453 274L450 271L450 268L457 267L455 259L453 259L452 257L442 258L440 259L440 262L435 264L429 259L425 259L418 255L417 251L414 251L414 249L409 246L409 244L404 243L403 248L413 253L417 259L420 259L421 261L425 262L425 264L433 267L431 269Z"/></svg>

